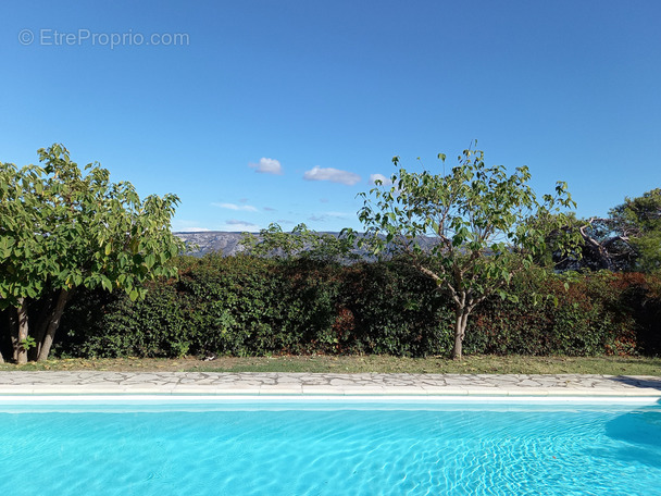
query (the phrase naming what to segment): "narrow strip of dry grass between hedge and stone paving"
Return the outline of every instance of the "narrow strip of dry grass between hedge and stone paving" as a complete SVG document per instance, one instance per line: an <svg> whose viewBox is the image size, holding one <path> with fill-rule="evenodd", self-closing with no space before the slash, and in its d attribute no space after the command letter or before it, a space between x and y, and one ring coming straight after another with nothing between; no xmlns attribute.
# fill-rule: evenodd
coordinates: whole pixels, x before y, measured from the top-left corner
<svg viewBox="0 0 661 496"><path fill-rule="evenodd" d="M333 372L333 373L451 373L451 374L606 374L661 375L661 358L471 356L446 358L389 356L220 357L213 361L169 359L60 359L15 365L0 371L96 370L123 372Z"/></svg>

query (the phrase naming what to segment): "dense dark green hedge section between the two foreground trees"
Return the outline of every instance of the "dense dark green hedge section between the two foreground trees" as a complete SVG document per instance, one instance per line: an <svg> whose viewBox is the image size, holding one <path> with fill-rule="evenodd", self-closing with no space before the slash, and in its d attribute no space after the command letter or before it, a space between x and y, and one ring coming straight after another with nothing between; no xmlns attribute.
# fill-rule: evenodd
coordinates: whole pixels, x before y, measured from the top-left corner
<svg viewBox="0 0 661 496"><path fill-rule="evenodd" d="M187 355L423 356L439 346L435 315L442 298L421 292L433 283L401 263L211 255L179 265L178 281L152 285L144 301L80 295L57 352L169 357L185 344Z"/></svg>

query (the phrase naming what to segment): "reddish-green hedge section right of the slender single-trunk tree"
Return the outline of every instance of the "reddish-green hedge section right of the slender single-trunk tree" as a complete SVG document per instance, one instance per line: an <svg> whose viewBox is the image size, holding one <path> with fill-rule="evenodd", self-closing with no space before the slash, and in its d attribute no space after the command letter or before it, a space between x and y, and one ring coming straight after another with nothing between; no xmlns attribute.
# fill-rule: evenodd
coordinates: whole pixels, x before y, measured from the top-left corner
<svg viewBox="0 0 661 496"><path fill-rule="evenodd" d="M522 274L513 282L517 303L490 299L477 311L469 352L497 355L634 355L634 312L624 305L621 275L588 274L569 283Z"/></svg>

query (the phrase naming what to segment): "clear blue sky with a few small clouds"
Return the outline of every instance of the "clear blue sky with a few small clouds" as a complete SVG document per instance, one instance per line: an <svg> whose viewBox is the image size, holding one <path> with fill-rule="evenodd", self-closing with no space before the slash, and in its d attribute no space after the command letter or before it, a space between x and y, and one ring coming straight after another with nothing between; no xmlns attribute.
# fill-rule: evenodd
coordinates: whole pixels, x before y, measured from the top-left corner
<svg viewBox="0 0 661 496"><path fill-rule="evenodd" d="M656 0L9 0L0 161L62 142L177 194L176 231L338 231L394 156L440 171L477 139L606 215L661 187L659 20Z"/></svg>

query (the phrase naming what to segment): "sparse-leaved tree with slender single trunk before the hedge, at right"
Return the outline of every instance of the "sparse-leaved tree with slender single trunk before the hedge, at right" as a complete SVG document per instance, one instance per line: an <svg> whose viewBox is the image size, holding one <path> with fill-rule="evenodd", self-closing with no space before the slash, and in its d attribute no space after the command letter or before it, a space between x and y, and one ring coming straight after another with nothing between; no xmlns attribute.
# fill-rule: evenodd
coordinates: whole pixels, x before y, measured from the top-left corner
<svg viewBox="0 0 661 496"><path fill-rule="evenodd" d="M438 158L445 168L446 156ZM395 165L399 158L392 159ZM545 239L575 207L564 183L541 203L528 186L525 166L510 176L501 165L487 166L484 152L464 150L449 174L408 172L392 175L392 186L378 183L362 193L359 219L375 253L394 247L448 294L454 306L454 348L461 359L469 315L488 296L515 299L507 287L514 273L529 268L544 252ZM421 240L434 243L423 249Z"/></svg>

